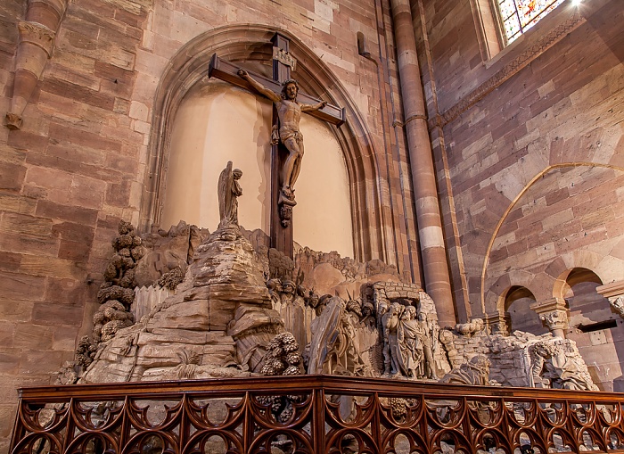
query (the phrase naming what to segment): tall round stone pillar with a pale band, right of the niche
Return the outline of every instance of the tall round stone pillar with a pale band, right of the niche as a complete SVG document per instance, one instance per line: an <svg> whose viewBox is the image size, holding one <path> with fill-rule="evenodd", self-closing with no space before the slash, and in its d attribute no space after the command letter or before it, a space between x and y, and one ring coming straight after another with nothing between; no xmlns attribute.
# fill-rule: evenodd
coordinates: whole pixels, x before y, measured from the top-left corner
<svg viewBox="0 0 624 454"><path fill-rule="evenodd" d="M455 304L448 274L438 187L427 128L416 39L409 0L391 0L397 44L398 74L401 81L407 151L411 163L418 237L423 253L425 290L435 301L440 326L456 324Z"/></svg>

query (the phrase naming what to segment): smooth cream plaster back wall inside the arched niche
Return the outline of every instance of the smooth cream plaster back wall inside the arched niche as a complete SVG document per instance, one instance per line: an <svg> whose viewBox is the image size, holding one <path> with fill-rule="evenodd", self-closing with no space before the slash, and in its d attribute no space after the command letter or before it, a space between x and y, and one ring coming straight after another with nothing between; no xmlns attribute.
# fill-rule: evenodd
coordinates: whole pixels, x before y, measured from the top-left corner
<svg viewBox="0 0 624 454"><path fill-rule="evenodd" d="M218 176L242 170L239 223L269 232L271 103L225 82L197 84L174 120L160 227L218 226ZM323 121L303 114L305 155L295 185L294 240L353 257L349 177L340 144Z"/></svg>

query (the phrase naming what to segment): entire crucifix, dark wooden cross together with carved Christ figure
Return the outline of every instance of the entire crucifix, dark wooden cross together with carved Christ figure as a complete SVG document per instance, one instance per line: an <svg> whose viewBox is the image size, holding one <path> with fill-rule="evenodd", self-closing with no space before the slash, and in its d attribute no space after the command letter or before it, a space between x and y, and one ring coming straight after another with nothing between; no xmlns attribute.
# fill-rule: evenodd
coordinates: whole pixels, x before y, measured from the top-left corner
<svg viewBox="0 0 624 454"><path fill-rule="evenodd" d="M292 258L292 207L295 206L294 184L299 176L303 156L303 136L299 129L300 113L340 126L344 110L312 96L299 93L291 79L296 61L288 53L289 40L279 33L273 43L273 79L242 70L233 63L212 55L208 76L246 88L273 101L271 133L271 247Z"/></svg>

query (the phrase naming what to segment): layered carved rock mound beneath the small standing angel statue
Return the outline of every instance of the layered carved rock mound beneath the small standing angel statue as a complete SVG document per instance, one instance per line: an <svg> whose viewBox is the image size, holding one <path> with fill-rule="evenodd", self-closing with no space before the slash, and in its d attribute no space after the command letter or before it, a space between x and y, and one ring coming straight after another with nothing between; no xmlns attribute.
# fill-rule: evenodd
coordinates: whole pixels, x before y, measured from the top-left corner
<svg viewBox="0 0 624 454"><path fill-rule="evenodd" d="M283 332L262 263L242 235L198 247L177 292L107 343L81 383L245 376Z"/></svg>

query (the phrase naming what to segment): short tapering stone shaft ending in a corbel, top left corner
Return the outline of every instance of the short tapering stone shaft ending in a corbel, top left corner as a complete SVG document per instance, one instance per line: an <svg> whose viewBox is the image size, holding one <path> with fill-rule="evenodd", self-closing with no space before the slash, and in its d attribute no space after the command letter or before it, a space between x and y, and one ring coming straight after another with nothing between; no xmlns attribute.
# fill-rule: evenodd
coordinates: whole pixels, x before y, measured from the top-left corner
<svg viewBox="0 0 624 454"><path fill-rule="evenodd" d="M52 57L56 31L66 7L66 0L30 0L26 21L18 23L11 110L5 117L7 128L21 128L21 115Z"/></svg>

